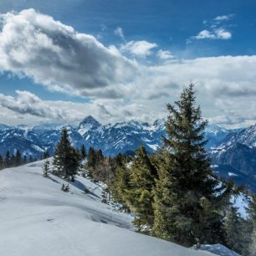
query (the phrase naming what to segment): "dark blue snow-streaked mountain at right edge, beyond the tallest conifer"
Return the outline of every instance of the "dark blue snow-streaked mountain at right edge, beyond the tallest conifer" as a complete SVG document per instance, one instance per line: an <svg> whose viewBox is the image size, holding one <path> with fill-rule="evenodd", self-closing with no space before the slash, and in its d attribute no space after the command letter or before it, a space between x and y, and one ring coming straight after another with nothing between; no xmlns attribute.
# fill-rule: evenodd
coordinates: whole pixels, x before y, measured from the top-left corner
<svg viewBox="0 0 256 256"><path fill-rule="evenodd" d="M256 191L256 125L232 131L210 149L216 172ZM232 173L233 175L228 175Z"/></svg>

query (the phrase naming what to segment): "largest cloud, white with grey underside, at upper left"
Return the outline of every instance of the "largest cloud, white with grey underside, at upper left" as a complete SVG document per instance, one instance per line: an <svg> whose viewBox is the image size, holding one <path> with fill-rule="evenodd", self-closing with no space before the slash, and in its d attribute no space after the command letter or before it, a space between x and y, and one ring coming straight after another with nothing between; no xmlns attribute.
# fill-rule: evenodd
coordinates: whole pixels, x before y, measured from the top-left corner
<svg viewBox="0 0 256 256"><path fill-rule="evenodd" d="M26 75L49 90L107 97L131 79L136 64L95 37L33 9L0 16L0 68Z"/></svg>

